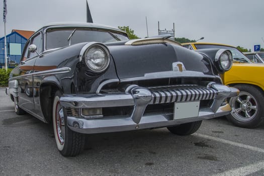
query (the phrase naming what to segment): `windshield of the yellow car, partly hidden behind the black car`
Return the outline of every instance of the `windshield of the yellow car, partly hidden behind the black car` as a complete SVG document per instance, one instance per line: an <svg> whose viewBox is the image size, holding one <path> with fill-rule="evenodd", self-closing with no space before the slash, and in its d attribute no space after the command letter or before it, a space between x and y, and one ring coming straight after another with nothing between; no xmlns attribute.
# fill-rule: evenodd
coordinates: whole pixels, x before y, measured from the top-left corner
<svg viewBox="0 0 264 176"><path fill-rule="evenodd" d="M250 60L241 53L237 48L229 47L229 46L222 46L222 45L196 45L195 47L197 49L210 49L210 48L216 48L216 49L228 49L232 52L233 60L238 62L244 62L244 63L251 63Z"/></svg>

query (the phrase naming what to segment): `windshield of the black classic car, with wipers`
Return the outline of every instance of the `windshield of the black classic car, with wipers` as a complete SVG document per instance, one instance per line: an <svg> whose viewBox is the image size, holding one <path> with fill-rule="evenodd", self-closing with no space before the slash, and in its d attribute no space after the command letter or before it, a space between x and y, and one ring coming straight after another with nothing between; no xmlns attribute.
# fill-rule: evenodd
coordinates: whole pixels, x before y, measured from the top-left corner
<svg viewBox="0 0 264 176"><path fill-rule="evenodd" d="M120 40L128 40L128 38L122 33L98 29L48 29L46 33L46 49L60 48L81 42L106 43Z"/></svg>

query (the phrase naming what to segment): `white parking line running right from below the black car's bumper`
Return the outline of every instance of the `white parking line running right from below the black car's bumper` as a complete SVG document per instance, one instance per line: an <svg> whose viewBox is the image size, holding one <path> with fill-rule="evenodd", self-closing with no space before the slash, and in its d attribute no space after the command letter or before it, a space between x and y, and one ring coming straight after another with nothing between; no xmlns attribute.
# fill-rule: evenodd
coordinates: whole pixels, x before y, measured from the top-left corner
<svg viewBox="0 0 264 176"><path fill-rule="evenodd" d="M233 142L233 141L229 141L229 140L225 140L225 139L221 139L221 138L217 138L217 137L213 137L213 136L208 136L208 135L204 135L204 134L199 134L199 133L194 133L193 135L194 136L198 136L198 137L202 137L202 138L206 138L206 139L211 139L211 140L218 141L218 142L222 142L222 143L226 143L226 144L229 144L229 145L242 147L242 148L246 148L246 149L249 149L249 150L253 150L253 151L264 153L264 149L262 149L262 148L253 147L253 146L250 146L250 145L245 145L245 144L241 144L241 143L237 143L237 142Z"/></svg>

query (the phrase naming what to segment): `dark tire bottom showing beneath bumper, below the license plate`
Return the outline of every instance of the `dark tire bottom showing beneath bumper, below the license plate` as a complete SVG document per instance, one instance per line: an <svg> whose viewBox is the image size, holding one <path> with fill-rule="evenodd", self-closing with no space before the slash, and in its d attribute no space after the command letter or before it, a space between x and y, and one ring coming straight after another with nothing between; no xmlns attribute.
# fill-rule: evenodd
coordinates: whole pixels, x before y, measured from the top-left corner
<svg viewBox="0 0 264 176"><path fill-rule="evenodd" d="M168 131L181 136L195 133L201 126L202 121L185 123L177 126L167 127Z"/></svg>

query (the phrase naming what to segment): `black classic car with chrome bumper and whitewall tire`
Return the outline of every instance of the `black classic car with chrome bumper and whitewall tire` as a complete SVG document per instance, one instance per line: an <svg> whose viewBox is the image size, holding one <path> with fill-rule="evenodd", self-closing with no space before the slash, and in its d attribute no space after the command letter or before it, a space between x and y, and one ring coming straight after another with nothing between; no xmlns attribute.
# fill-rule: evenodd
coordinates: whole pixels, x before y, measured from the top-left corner
<svg viewBox="0 0 264 176"><path fill-rule="evenodd" d="M167 127L196 132L202 120L229 114L222 84L229 50L196 53L158 36L129 40L125 32L90 23L44 26L27 41L10 74L17 114L53 124L64 156L77 155L84 134Z"/></svg>

